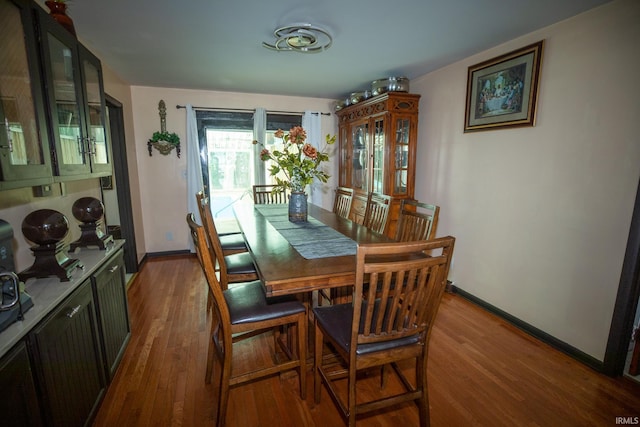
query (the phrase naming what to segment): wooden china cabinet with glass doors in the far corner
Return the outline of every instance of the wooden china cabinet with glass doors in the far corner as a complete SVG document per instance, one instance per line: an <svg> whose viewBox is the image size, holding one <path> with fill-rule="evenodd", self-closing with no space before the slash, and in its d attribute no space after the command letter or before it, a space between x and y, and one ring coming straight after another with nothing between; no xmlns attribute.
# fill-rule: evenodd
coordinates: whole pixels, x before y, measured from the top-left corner
<svg viewBox="0 0 640 427"><path fill-rule="evenodd" d="M351 219L362 222L369 192L392 197L394 236L402 199L413 198L420 95L389 92L338 111L339 186L353 188Z"/></svg>

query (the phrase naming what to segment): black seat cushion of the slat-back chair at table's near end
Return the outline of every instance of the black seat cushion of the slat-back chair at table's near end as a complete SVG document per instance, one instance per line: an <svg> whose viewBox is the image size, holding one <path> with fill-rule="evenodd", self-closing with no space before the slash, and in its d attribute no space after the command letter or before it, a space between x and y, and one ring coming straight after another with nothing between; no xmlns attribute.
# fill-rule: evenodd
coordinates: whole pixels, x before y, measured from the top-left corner
<svg viewBox="0 0 640 427"><path fill-rule="evenodd" d="M351 303L347 303L316 307L313 309L313 313L324 334L330 336L336 344L342 348L342 350L348 352L349 347L351 346L353 305L351 305ZM362 332L362 325L360 325L360 332ZM388 350L394 347L416 344L419 342L419 338L420 337L418 335L412 335L410 337L398 338L379 343L360 344L356 349L356 354L369 354L376 351Z"/></svg>

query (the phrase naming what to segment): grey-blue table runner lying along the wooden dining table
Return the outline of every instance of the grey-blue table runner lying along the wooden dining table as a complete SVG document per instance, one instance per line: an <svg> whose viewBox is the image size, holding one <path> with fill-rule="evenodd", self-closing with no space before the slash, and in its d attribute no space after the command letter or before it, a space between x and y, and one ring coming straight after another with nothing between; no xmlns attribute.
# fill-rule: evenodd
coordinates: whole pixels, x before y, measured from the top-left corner
<svg viewBox="0 0 640 427"><path fill-rule="evenodd" d="M307 222L290 222L288 205L256 205L255 209L303 258L356 254L355 241L311 216Z"/></svg>

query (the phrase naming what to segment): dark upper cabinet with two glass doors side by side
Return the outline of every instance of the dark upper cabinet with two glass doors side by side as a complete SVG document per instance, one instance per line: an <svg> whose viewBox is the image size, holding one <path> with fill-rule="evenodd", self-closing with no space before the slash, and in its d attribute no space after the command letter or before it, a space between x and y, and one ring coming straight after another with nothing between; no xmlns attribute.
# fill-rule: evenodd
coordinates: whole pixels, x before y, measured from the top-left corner
<svg viewBox="0 0 640 427"><path fill-rule="evenodd" d="M39 18L55 171L65 179L110 175L100 62L44 11Z"/></svg>

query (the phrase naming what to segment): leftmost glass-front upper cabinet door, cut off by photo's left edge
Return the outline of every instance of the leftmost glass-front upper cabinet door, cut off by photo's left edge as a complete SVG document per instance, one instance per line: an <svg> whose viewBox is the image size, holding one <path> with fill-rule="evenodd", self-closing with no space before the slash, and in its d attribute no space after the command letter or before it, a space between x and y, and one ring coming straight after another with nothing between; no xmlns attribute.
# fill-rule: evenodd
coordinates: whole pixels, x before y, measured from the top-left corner
<svg viewBox="0 0 640 427"><path fill-rule="evenodd" d="M52 181L33 10L0 0L0 189Z"/></svg>

